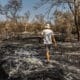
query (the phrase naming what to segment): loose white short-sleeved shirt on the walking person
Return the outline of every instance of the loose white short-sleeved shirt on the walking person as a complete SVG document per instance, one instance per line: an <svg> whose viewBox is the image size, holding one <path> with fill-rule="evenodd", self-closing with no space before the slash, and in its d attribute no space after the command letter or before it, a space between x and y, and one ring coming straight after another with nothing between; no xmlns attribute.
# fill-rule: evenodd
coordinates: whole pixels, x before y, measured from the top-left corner
<svg viewBox="0 0 80 80"><path fill-rule="evenodd" d="M52 44L53 31L51 29L44 29L42 35L44 44Z"/></svg>

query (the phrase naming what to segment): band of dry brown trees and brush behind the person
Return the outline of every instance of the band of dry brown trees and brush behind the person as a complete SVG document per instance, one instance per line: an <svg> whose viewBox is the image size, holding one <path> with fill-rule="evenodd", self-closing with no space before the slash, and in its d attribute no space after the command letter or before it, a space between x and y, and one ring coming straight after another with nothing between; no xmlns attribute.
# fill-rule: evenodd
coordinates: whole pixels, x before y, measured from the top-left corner
<svg viewBox="0 0 80 80"><path fill-rule="evenodd" d="M39 9L41 6L49 4L47 14L53 8L51 20L48 21L51 24L52 29L58 33L64 33L67 38L71 37L72 34L77 34L78 41L80 40L80 2L79 0L40 0L35 4L35 9ZM69 10L66 12L60 11L59 6L67 5ZM23 7L22 0L8 0L6 5L0 4L0 14L5 16L6 21L0 21L0 33L20 33L25 31L38 33L46 24L45 15L35 15L34 19L29 22L30 12L27 11L23 16L19 16L19 12ZM53 24L54 22L54 24ZM71 35L70 35L71 34Z"/></svg>

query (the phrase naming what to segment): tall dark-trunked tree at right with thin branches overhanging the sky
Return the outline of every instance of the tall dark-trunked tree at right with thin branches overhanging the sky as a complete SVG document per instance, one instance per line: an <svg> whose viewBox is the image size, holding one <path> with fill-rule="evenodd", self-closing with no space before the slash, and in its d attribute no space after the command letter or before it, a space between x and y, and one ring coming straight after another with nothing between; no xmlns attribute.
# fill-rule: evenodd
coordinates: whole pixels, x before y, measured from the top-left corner
<svg viewBox="0 0 80 80"><path fill-rule="evenodd" d="M35 6L35 8L40 8L43 5L49 4L50 7L48 7L48 14L55 9L55 7L60 7L60 6L65 6L68 5L67 8L69 8L70 12L72 12L73 17L74 17L74 23L76 27L76 33L77 33L77 38L80 40L80 34L79 34L79 10L80 10L80 0L39 0L40 2ZM66 9L66 8L65 8ZM54 12L54 11L53 11Z"/></svg>

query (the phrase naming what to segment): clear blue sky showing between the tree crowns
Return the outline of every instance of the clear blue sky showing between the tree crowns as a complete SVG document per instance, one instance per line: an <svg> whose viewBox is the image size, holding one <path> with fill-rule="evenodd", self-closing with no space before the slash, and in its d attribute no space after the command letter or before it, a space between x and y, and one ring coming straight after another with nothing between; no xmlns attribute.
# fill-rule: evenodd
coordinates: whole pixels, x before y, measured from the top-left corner
<svg viewBox="0 0 80 80"><path fill-rule="evenodd" d="M30 11L31 13L31 17L30 19L33 19L33 17L37 14L45 14L45 12L47 11L47 6L43 6L41 7L40 9L38 10L35 10L33 7L36 5L36 3L38 2L39 0L22 0L23 2L23 5L22 5L22 9L21 9L21 12L19 13L20 15L23 15L25 12L27 12L28 10ZM2 5L5 5L6 3L8 2L8 0L0 0L0 4ZM62 9L62 8L61 8ZM55 8L52 10L54 11ZM52 12L51 12L52 14ZM46 14L45 14L46 15ZM3 16L0 15L0 18L3 19Z"/></svg>

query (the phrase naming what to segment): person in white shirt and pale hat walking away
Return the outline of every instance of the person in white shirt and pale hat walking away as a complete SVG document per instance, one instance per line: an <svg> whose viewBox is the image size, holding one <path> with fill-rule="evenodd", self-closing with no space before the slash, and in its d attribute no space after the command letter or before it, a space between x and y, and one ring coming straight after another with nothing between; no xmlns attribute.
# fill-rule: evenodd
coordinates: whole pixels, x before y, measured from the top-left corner
<svg viewBox="0 0 80 80"><path fill-rule="evenodd" d="M46 24L45 29L41 32L43 36L43 42L46 47L47 62L50 62L50 47L52 44L57 48L57 43L54 37L54 32L50 27L50 24Z"/></svg>

